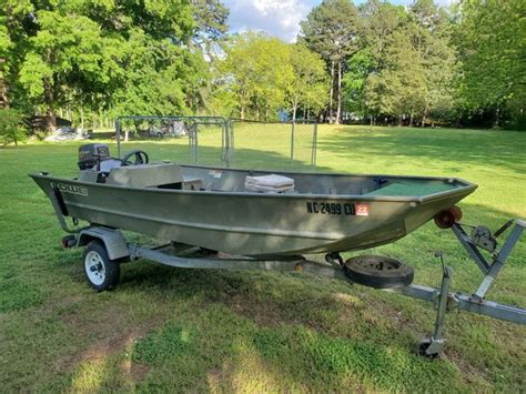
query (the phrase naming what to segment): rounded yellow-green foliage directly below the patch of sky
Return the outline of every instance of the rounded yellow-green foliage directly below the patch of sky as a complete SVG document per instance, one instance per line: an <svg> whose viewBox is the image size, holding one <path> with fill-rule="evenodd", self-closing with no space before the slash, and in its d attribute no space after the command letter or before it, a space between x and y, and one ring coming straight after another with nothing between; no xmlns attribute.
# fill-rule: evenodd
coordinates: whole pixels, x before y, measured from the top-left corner
<svg viewBox="0 0 526 394"><path fill-rule="evenodd" d="M275 119L280 109L318 112L326 103L326 72L318 54L261 33L234 37L216 60L215 113Z"/></svg>

